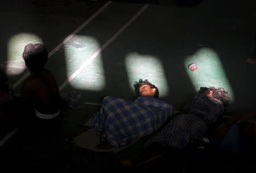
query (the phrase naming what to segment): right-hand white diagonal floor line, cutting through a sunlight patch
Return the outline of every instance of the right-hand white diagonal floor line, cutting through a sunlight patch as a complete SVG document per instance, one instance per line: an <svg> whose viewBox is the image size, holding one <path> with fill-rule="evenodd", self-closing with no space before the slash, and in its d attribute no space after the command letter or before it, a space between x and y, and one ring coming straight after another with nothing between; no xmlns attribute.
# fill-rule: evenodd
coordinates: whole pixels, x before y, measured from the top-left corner
<svg viewBox="0 0 256 173"><path fill-rule="evenodd" d="M67 86L68 83L71 82L82 70L84 70L85 67L86 67L87 65L89 65L89 64L94 60L94 58L96 58L96 57L98 56L98 54L100 54L100 53L102 52L102 50L104 50L116 37L118 37L131 23L133 23L133 21L134 21L135 19L137 19L138 16L141 15L142 12L147 9L148 6L149 6L148 4L147 4L147 5L144 5L144 6L142 7L142 9L139 10L139 11L137 12L137 14L135 14L135 15L133 16L133 18L131 18L121 29L119 29L119 31L118 31L117 33L115 33L104 45L102 45L102 47L101 47L100 49L98 49L98 50L93 54L93 56L89 58L89 60L85 61L85 62L80 66L80 68L77 69L77 70L75 71L75 73L73 73L73 74L67 79L67 81L65 81L65 82L59 87L59 90L61 91L61 90L62 90L65 86Z"/></svg>

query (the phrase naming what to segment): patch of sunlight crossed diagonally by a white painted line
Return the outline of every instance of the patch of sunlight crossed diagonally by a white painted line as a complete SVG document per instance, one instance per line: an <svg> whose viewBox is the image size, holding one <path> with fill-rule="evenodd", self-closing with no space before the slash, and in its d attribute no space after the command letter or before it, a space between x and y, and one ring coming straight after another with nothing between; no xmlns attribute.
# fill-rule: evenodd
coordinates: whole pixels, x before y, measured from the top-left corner
<svg viewBox="0 0 256 173"><path fill-rule="evenodd" d="M76 35L64 44L67 76L71 76L100 48L100 44L94 37ZM73 79L69 85L74 88L89 91L101 91L105 87L105 74L100 57L89 62L88 66Z"/></svg>

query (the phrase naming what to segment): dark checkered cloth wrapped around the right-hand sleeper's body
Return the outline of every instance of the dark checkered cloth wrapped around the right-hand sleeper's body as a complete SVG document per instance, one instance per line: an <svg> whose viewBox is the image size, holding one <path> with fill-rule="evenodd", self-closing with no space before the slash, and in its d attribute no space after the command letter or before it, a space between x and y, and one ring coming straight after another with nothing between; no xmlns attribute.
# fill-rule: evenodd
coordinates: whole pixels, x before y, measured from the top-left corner
<svg viewBox="0 0 256 173"><path fill-rule="evenodd" d="M224 106L220 100L198 94L184 111L185 113L171 119L160 132L146 142L144 147L158 142L174 149L184 149L193 142L202 140L209 128L222 116Z"/></svg>

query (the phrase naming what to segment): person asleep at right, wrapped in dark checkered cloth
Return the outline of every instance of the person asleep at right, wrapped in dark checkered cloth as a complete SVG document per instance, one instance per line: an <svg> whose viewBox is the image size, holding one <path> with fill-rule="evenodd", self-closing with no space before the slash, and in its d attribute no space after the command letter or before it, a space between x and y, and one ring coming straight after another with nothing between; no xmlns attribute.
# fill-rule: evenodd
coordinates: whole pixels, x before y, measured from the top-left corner
<svg viewBox="0 0 256 173"><path fill-rule="evenodd" d="M230 98L224 88L201 87L192 103L184 107L183 112L171 117L166 125L144 144L141 158L134 161L124 159L119 163L123 166L134 166L152 157L153 153L164 155L167 151L180 151L194 146L195 142L202 141L215 129L224 113L224 107L229 103Z"/></svg>

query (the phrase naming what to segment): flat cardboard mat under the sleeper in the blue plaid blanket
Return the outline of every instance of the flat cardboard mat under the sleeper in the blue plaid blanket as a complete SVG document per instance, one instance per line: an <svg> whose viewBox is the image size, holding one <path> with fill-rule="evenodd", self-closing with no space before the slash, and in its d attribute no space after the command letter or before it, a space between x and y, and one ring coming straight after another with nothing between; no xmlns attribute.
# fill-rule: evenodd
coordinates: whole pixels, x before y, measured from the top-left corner
<svg viewBox="0 0 256 173"><path fill-rule="evenodd" d="M85 125L91 126L92 119L90 119ZM109 148L109 149L96 149L96 145L100 144L100 136L96 135L95 129L90 128L89 130L79 134L74 138L75 146L79 146L88 150L98 151L98 152L108 152L108 153L118 153L119 151L125 149L126 147L135 144L139 140L136 139L131 142L130 145L121 146L118 148Z"/></svg>

